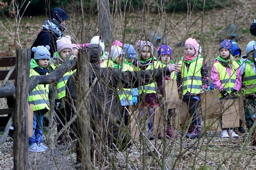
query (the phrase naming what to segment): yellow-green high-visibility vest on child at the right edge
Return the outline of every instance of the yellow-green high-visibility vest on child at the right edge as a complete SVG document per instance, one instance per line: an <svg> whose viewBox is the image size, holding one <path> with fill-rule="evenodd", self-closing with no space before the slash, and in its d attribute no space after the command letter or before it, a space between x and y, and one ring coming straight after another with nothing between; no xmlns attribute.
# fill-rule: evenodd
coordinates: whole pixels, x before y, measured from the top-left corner
<svg viewBox="0 0 256 170"><path fill-rule="evenodd" d="M256 87L250 88L255 86L256 84L256 75L249 63L245 63L245 73L243 77L243 84L245 89L243 90L244 94L252 94L256 92Z"/></svg>

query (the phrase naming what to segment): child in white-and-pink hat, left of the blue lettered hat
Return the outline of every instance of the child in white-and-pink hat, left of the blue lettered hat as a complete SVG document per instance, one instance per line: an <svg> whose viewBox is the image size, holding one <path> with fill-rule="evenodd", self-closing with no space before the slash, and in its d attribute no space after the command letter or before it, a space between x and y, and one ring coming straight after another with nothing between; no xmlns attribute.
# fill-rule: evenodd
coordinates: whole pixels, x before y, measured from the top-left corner
<svg viewBox="0 0 256 170"><path fill-rule="evenodd" d="M120 71L133 71L133 68L129 66L128 64L125 64L124 61L124 51L119 46L112 46L110 50L110 56L111 60L113 61L113 67L120 69ZM120 99L120 103L122 105L122 114L124 114L124 123L127 126L128 125L128 107L132 106L133 103L137 104L137 96L138 96L138 90L137 88L131 89L131 88L123 88L120 86L118 89L118 96Z"/></svg>

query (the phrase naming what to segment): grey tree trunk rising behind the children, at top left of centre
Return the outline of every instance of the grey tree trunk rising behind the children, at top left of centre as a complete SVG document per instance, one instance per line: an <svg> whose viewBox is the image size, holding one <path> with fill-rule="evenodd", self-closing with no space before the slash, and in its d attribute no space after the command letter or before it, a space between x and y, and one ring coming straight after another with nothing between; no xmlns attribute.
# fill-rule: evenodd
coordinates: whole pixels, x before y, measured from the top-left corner
<svg viewBox="0 0 256 170"><path fill-rule="evenodd" d="M98 12L99 12L99 32L100 36L103 35L104 42L109 43L111 37L111 22L109 12L109 1L98 0Z"/></svg>

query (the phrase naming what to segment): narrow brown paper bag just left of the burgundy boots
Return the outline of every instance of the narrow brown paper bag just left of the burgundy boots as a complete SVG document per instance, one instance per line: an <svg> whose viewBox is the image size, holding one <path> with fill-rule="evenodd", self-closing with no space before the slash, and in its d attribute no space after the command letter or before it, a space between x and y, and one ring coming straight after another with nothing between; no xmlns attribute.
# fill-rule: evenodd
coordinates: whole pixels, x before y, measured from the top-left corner
<svg viewBox="0 0 256 170"><path fill-rule="evenodd" d="M159 106L154 106L153 108L153 125L152 134L156 135L164 130L163 116L161 114L161 109Z"/></svg>

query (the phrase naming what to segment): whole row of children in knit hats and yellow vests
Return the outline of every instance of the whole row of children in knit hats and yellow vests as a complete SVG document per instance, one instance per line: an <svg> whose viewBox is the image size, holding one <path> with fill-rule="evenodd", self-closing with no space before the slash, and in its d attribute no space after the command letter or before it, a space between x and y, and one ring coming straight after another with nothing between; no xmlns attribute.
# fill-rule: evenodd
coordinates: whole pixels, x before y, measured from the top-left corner
<svg viewBox="0 0 256 170"><path fill-rule="evenodd" d="M71 43L71 37L66 36L57 40L57 52L54 57L50 58L49 46L33 47L34 58L31 59L30 76L45 75L48 72L57 69L69 53L73 53L68 60L77 57L79 49L85 48L86 45L77 45ZM90 44L98 44L104 51L104 41L102 37L95 36L91 39ZM246 55L241 56L241 49L236 43L225 39L219 46L219 56L214 60L211 71L211 80L215 89L219 91L219 99L235 99L238 97L238 91L243 87L243 94L245 96L245 120L247 127L250 129L252 121L250 117L254 114L256 106L256 76L255 65L253 63L253 56L255 56L255 41L251 41L246 47ZM198 107L200 103L200 95L203 94L209 87L209 75L206 61L201 56L201 47L196 39L188 38L185 41L184 56L179 63L182 64L180 72L172 72L166 76L165 80L176 79L180 98L187 103L189 114L192 117L192 126L187 129L186 137L198 138L201 134L201 119L198 114ZM138 41L134 48L131 44L122 44L115 40L112 43L110 52L103 52L100 56L100 66L102 68L117 68L120 71L140 71L155 68L162 68L173 64L172 48L167 45L161 45L158 50L158 58L153 54L153 45L149 41ZM232 54L232 55L231 55ZM65 112L65 90L66 82L74 71L69 71L63 75L56 83L56 112L58 115L58 132L63 128L67 121ZM138 101L141 102L140 108L147 108L149 115L148 133L152 134L153 125L153 111L154 107L164 104L161 100L165 95L163 93L164 81L154 82L148 85L137 88L123 88L120 86L117 89L117 94L122 105L122 115L124 125L128 125L129 107L136 105ZM49 111L48 101L48 86L38 85L29 94L29 103L34 104L34 123L33 123L33 137L29 138L29 151L43 152L47 149L42 143L42 118L43 115ZM177 99L178 100L178 99ZM143 115L143 109L140 109L140 117ZM170 109L168 112L168 122L166 134L168 138L173 136L179 137L179 134L174 134L174 129L171 124L170 117L175 114L175 109ZM221 125L222 125L222 121ZM234 127L235 128L235 127ZM237 127L238 128L238 127ZM162 138L165 131L158 135ZM238 131L245 133L242 127ZM238 137L232 128L222 128L222 138ZM60 137L59 144L63 145L64 141Z"/></svg>

